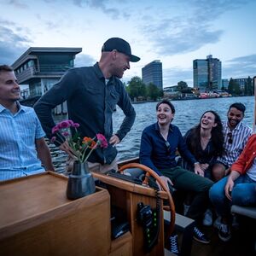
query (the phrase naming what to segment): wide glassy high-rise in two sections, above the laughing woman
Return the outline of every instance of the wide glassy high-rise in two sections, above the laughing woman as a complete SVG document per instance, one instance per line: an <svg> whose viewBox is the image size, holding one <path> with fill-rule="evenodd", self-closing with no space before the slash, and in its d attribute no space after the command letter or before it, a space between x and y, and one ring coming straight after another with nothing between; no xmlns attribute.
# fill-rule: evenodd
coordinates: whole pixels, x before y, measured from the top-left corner
<svg viewBox="0 0 256 256"><path fill-rule="evenodd" d="M221 61L212 55L207 55L207 59L194 60L193 76L194 87L201 91L221 89Z"/></svg>

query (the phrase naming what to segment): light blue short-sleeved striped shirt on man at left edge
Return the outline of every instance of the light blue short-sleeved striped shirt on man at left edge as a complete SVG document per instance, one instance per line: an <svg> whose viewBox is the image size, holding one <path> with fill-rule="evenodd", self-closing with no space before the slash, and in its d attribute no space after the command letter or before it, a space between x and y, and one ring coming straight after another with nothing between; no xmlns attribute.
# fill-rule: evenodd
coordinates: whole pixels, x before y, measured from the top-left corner
<svg viewBox="0 0 256 256"><path fill-rule="evenodd" d="M44 172L35 140L45 136L33 108L11 113L0 104L0 180Z"/></svg>

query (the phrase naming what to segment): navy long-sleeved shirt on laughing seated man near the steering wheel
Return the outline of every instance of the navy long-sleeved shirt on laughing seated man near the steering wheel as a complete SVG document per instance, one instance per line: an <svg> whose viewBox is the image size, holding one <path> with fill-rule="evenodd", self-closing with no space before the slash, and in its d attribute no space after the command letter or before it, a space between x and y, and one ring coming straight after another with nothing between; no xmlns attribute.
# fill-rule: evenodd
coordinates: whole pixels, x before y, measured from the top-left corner
<svg viewBox="0 0 256 256"><path fill-rule="evenodd" d="M177 150L192 165L196 162L176 125L170 125L167 142L160 135L158 123L144 129L140 149L140 161L143 165L161 175L161 169L177 166L175 161Z"/></svg>

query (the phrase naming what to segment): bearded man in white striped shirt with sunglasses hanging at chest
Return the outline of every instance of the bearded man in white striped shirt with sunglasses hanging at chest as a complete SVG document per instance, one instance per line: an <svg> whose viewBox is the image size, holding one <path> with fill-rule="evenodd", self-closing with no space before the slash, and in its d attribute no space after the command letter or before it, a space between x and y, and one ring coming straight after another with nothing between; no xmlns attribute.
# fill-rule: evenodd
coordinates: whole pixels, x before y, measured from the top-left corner
<svg viewBox="0 0 256 256"><path fill-rule="evenodd" d="M228 120L223 122L224 154L218 157L212 167L212 179L220 180L230 172L230 166L238 159L253 131L241 120L244 118L246 107L239 102L230 105Z"/></svg>

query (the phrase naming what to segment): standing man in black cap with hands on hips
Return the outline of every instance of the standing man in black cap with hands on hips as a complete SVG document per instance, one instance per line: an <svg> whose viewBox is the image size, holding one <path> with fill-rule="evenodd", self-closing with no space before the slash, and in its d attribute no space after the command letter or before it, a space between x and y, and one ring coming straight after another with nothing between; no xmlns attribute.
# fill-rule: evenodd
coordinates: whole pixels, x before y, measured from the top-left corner
<svg viewBox="0 0 256 256"><path fill-rule="evenodd" d="M78 67L67 71L61 80L48 90L34 106L47 137L52 137L55 126L51 109L67 101L68 118L79 123L82 137L95 137L102 133L108 140L108 148L99 148L90 154L90 170L107 172L116 169L118 144L131 130L135 111L123 83L119 80L125 70L130 69L130 61L140 58L131 55L130 44L121 38L109 38L102 46L102 56L93 67ZM112 114L118 105L125 113L125 119L113 134ZM71 149L68 143L60 148Z"/></svg>

